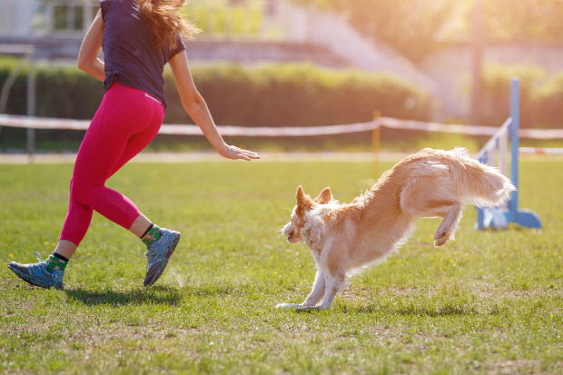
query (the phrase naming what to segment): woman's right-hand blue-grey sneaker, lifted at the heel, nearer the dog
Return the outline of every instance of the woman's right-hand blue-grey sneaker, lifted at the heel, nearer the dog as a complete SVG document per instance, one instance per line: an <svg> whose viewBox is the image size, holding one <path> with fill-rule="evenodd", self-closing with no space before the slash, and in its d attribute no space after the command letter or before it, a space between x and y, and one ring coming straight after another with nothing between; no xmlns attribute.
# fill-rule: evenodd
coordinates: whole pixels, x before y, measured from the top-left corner
<svg viewBox="0 0 563 375"><path fill-rule="evenodd" d="M147 251L144 253L146 255L144 286L153 285L161 277L178 241L180 241L180 232L161 228L161 238L147 246Z"/></svg>

